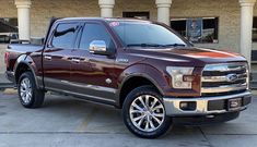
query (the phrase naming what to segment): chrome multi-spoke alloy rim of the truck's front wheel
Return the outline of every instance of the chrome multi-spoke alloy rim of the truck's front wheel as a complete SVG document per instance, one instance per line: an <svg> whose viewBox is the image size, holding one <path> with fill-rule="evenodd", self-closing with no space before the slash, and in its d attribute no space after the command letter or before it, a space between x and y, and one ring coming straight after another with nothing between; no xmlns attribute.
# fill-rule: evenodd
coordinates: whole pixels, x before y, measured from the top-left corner
<svg viewBox="0 0 257 147"><path fill-rule="evenodd" d="M164 122L165 110L163 103L154 96L137 97L129 109L133 125L143 132L154 132Z"/></svg>

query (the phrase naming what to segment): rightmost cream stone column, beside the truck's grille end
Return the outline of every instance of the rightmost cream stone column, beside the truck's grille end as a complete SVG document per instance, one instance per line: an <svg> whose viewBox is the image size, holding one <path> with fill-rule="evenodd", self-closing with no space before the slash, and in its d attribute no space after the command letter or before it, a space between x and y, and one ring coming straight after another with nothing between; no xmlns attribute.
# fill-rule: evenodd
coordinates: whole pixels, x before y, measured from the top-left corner
<svg viewBox="0 0 257 147"><path fill-rule="evenodd" d="M250 65L253 44L253 13L256 0L240 0L241 4L241 53L247 59Z"/></svg>

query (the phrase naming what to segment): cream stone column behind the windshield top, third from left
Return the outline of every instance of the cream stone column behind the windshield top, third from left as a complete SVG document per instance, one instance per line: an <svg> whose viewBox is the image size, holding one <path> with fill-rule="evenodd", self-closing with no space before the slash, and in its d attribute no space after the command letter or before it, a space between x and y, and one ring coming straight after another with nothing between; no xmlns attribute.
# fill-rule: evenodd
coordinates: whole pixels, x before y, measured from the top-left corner
<svg viewBox="0 0 257 147"><path fill-rule="evenodd" d="M171 25L172 0L155 0L157 7L157 21Z"/></svg>

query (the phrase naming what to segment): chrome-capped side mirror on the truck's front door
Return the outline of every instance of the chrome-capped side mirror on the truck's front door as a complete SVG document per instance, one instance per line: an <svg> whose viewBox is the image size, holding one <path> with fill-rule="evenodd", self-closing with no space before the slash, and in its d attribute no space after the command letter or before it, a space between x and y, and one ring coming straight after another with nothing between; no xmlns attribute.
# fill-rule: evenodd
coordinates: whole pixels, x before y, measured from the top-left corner
<svg viewBox="0 0 257 147"><path fill-rule="evenodd" d="M94 54L109 56L110 52L107 51L107 46L104 40L93 40L90 44L90 52Z"/></svg>

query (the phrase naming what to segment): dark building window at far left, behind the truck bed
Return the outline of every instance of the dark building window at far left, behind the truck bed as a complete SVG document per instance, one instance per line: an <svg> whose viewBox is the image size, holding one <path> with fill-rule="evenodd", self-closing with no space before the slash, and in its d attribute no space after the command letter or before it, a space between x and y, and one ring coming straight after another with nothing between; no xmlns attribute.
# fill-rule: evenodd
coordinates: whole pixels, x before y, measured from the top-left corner
<svg viewBox="0 0 257 147"><path fill-rule="evenodd" d="M10 41L17 39L17 19L1 17L0 44L9 44Z"/></svg>

